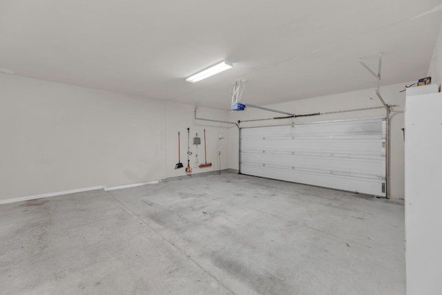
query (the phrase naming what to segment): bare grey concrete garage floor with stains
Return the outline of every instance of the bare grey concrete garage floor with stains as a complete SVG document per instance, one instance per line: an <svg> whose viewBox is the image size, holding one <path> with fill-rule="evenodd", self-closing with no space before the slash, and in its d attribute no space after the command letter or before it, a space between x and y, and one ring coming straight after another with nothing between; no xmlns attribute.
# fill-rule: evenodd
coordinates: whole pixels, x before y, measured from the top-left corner
<svg viewBox="0 0 442 295"><path fill-rule="evenodd" d="M236 173L0 206L1 294L405 294L404 207Z"/></svg>

